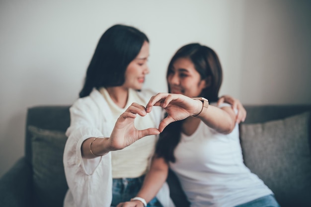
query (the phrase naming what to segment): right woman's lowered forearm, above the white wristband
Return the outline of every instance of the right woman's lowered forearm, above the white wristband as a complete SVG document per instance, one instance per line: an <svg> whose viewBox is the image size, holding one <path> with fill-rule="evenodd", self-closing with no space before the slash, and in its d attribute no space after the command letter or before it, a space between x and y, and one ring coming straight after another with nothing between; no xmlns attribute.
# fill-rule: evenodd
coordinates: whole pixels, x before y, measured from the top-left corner
<svg viewBox="0 0 311 207"><path fill-rule="evenodd" d="M137 197L144 198L149 203L162 187L168 174L168 164L163 158L156 158L153 160L151 168L147 173L143 186Z"/></svg>

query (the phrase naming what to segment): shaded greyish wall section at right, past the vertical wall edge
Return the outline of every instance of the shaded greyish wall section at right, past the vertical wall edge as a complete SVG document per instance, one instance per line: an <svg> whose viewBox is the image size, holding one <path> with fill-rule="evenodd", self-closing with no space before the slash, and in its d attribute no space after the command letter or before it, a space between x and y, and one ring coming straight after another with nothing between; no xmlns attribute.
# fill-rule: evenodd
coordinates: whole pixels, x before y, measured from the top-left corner
<svg viewBox="0 0 311 207"><path fill-rule="evenodd" d="M311 103L311 1L245 0L243 103Z"/></svg>

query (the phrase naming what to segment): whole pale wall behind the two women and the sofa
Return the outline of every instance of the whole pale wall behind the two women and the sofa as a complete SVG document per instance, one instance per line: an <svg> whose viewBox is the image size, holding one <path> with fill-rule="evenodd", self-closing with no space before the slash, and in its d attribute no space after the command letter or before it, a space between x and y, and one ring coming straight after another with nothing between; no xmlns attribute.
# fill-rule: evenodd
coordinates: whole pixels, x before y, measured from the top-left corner
<svg viewBox="0 0 311 207"><path fill-rule="evenodd" d="M102 33L123 23L151 40L145 87L166 91L182 45L214 48L221 94L244 104L311 104L311 1L1 0L0 176L24 153L28 107L69 105Z"/></svg>

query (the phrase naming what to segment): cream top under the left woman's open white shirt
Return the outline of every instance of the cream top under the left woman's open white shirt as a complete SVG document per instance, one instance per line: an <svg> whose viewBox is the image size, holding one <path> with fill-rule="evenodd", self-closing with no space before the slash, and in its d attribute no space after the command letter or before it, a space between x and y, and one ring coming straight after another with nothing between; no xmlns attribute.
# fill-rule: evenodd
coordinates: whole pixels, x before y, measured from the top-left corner
<svg viewBox="0 0 311 207"><path fill-rule="evenodd" d="M115 123L133 102L138 102L141 98L133 89L129 89L128 100L124 108L120 108L111 99L105 88L100 88L99 92L103 95L112 112L111 122ZM146 105L144 100L140 104ZM150 114L144 117L137 115L134 120L136 129L143 130L156 127L155 120ZM146 174L152 155L156 147L157 136L147 136L135 141L124 149L111 151L112 178L137 178Z"/></svg>

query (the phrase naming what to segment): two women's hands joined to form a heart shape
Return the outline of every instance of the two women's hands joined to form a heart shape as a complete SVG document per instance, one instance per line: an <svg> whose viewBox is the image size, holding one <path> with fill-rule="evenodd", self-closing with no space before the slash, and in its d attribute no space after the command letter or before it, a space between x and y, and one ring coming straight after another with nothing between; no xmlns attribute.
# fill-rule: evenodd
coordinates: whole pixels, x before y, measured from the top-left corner
<svg viewBox="0 0 311 207"><path fill-rule="evenodd" d="M138 115L146 116L152 111L153 106L162 107L168 114L158 129L148 128L138 130L134 126L134 120ZM200 101L193 100L182 94L158 93L151 97L146 108L138 103L133 103L118 118L110 136L110 150L123 149L140 138L149 135L158 135L172 122L183 120L194 114L198 114L202 108ZM198 111L199 110L199 111Z"/></svg>

